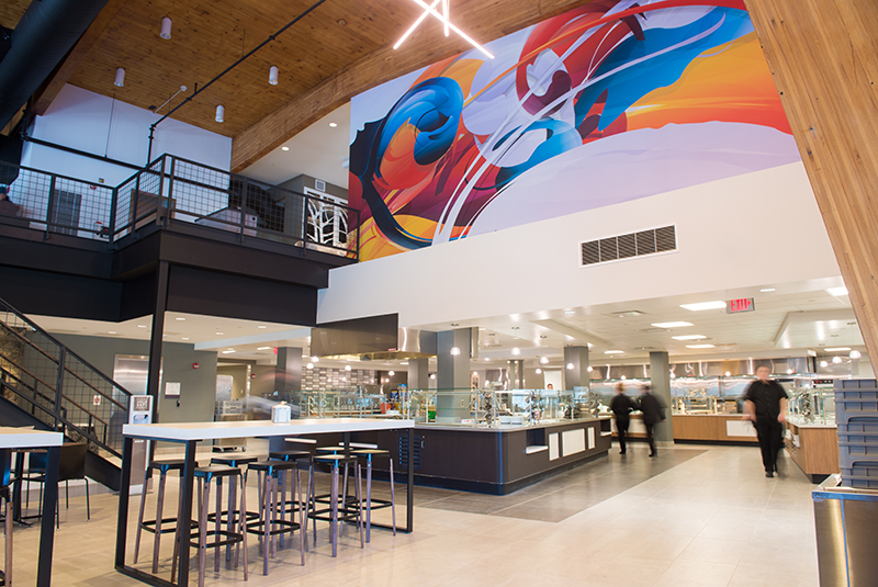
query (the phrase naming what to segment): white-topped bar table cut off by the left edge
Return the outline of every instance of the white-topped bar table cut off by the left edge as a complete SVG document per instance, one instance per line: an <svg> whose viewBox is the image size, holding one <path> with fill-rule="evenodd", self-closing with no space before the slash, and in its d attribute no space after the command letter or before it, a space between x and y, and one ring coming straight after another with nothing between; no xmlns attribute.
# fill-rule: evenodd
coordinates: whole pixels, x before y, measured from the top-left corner
<svg viewBox="0 0 878 587"><path fill-rule="evenodd" d="M46 484L43 490L43 519L40 523L40 553L36 563L37 587L52 585L52 550L55 545L55 504L58 500L58 459L64 434L26 428L0 426L0 450L46 449ZM21 483L16 479L16 483ZM21 492L16 492L19 495ZM21 560L21 557L20 557Z"/></svg>

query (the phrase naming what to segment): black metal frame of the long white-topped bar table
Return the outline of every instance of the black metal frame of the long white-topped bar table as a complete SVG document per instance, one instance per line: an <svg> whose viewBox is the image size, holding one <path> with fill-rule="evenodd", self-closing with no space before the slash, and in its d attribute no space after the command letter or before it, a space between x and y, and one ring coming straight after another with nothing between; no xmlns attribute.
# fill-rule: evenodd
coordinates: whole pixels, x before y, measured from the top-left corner
<svg viewBox="0 0 878 587"><path fill-rule="evenodd" d="M414 529L414 513L415 513L415 467L413 466L413 459L412 459L412 451L414 450L415 443L415 429L413 428L404 428L397 430L407 430L408 431L408 447L409 447L409 458L407 463L407 484L406 484L406 518L405 518L405 527L397 528L397 531L410 533ZM303 432L307 433L307 432ZM348 449L350 447L350 432L344 432L345 434L345 448ZM284 436L290 436L289 433ZM116 556L115 556L115 568L117 572L122 573L123 575L127 575L132 578L135 578L142 583L146 583L147 585L156 585L157 587L183 587L189 585L189 562L190 562L190 550L191 546L181 546L180 549L180 565L179 565L179 573L178 573L178 583L171 583L169 580L162 579L161 577L157 577L151 573L146 573L145 571L140 571L138 568L134 568L125 564L125 549L127 544L127 535L128 535L128 501L131 500L131 464L132 464L132 454L134 449L134 440L154 440L154 441L161 441L161 442L177 442L185 444L185 466L183 469L183 504L182 504L182 511L183 511L183 519L177 520L177 523L182 523L183 528L189 528L192 524L192 497L194 494L194 473L195 473L195 449L198 448L198 443L201 440L168 440L166 438L156 438L156 437L125 437L123 450L122 450L122 487L119 492L119 521L116 523ZM57 499L58 487L57 487L57 463L58 463L58 450L56 448L55 452L55 490L54 496ZM53 451L49 450L49 467L52 466L52 454ZM49 479L47 479L49 481ZM48 483L47 483L48 486ZM146 486L143 487L144 494L146 493ZM48 493L48 492L47 492ZM43 508L45 511L46 500L48 496L44 495L44 504ZM53 509L54 509L54 501L53 501ZM43 531L45 532L46 527L46 519L49 520L49 530L52 530L52 524L54 520L52 517L43 517ZM373 523L373 527L378 528L390 528L385 524ZM49 541L50 542L50 541ZM49 543L48 546L48 561L52 561L52 544ZM40 550L40 560L41 565L43 561L43 542L41 541L41 550ZM37 583L40 587L48 587L48 583L42 584Z"/></svg>

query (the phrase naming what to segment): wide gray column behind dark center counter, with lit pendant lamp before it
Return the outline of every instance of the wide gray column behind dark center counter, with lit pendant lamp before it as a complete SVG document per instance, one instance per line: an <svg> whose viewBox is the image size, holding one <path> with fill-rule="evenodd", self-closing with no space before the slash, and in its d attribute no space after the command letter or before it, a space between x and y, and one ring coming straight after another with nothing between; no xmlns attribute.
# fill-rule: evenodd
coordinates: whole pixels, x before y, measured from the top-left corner
<svg viewBox="0 0 878 587"><path fill-rule="evenodd" d="M469 328L444 330L436 335L437 390L436 421L455 422L470 416L469 396L442 392L470 390Z"/></svg>

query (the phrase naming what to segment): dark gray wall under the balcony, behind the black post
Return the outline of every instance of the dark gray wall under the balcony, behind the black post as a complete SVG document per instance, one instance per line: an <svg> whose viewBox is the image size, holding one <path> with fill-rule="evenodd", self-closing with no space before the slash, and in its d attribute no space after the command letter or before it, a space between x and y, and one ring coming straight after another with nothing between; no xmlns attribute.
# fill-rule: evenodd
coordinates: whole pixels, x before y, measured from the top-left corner
<svg viewBox="0 0 878 587"><path fill-rule="evenodd" d="M149 354L148 340L53 334L63 345L113 376L116 354ZM213 421L216 398L216 352L196 351L193 345L165 342L161 350L162 377L158 417L160 422ZM199 369L192 366L199 363ZM180 383L180 406L176 397L165 398L166 382Z"/></svg>

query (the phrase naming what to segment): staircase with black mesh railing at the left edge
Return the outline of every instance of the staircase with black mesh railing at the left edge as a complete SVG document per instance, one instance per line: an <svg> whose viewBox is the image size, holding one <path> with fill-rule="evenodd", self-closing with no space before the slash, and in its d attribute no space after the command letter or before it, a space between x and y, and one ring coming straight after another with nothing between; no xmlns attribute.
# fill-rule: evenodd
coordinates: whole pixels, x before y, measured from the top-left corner
<svg viewBox="0 0 878 587"><path fill-rule="evenodd" d="M86 474L119 490L131 395L0 300L0 425L88 442Z"/></svg>

